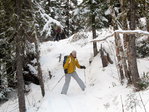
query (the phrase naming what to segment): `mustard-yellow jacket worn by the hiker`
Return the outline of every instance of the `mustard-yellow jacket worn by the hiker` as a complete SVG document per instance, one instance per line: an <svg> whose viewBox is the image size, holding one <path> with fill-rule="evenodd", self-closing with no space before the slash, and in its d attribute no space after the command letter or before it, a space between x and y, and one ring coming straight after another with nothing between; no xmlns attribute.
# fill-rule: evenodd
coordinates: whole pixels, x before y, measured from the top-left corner
<svg viewBox="0 0 149 112"><path fill-rule="evenodd" d="M67 73L73 73L76 70L76 67L80 68L80 64L76 58L73 56L68 56L66 63L64 64L64 69L67 69Z"/></svg>

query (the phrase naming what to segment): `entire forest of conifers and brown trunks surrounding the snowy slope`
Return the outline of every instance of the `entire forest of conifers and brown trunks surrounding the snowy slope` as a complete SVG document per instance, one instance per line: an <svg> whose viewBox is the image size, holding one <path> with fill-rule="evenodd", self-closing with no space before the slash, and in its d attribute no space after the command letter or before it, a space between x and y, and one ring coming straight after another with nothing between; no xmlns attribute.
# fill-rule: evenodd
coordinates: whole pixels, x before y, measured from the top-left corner
<svg viewBox="0 0 149 112"><path fill-rule="evenodd" d="M52 18L55 23L49 22ZM145 25L140 19L144 18ZM48 23L48 28L46 29ZM113 30L145 30L149 32L149 1L147 0L0 0L0 93L7 100L7 92L18 88L19 109L25 112L25 84L31 81L41 86L44 96L44 82L39 63L39 43L54 40L55 27L60 26L63 38L79 31L96 31L112 27ZM149 56L149 37L137 46L140 35L115 32L116 56L120 81L141 90L137 58ZM93 42L94 56L99 52ZM36 60L36 62L32 62ZM29 66L38 72L34 74ZM24 81L25 80L25 81Z"/></svg>

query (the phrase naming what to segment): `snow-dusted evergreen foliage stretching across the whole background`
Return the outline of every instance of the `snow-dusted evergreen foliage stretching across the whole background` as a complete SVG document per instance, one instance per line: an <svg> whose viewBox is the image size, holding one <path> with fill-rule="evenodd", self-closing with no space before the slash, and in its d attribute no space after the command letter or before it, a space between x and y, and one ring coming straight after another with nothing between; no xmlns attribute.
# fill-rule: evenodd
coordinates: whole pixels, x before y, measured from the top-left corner
<svg viewBox="0 0 149 112"><path fill-rule="evenodd" d="M140 23L138 20L140 18L149 18L149 9L147 7L148 3L145 0L137 0L137 3L136 27L139 27ZM25 72L28 63L37 55L34 50L35 46L32 44L36 41L35 33L37 33L41 41L45 41L49 37L53 39L55 34L52 30L55 25L60 25L67 35L72 35L80 30L91 30L92 25L96 29L109 27L111 25L111 17L109 13L106 14L106 11L110 7L113 7L115 10L116 24L123 29L121 27L121 17L123 17L122 14L124 13L120 9L121 6L118 0L110 0L109 3L106 0L83 0L81 4L78 4L77 0L23 1L21 18L18 18L16 14L16 4L13 0L0 0L0 95L2 96L0 99L6 98L7 87L16 87L17 43L15 39L18 33L21 32L20 37L25 43L23 50ZM127 22L130 22L130 13L128 10L126 10L126 15L126 21L128 20ZM95 16L94 24L92 24L91 16ZM51 19L54 23L50 21ZM146 26L144 25L144 27ZM145 29L144 27L143 29ZM83 36L86 38L85 35L78 34L78 38L76 39L81 39ZM30 54L33 56L31 60L28 60ZM149 56L148 40L137 44L137 56L140 58ZM37 67L35 63L30 63L30 66ZM148 85L148 82L141 82L140 84L144 88L144 86L146 87Z"/></svg>

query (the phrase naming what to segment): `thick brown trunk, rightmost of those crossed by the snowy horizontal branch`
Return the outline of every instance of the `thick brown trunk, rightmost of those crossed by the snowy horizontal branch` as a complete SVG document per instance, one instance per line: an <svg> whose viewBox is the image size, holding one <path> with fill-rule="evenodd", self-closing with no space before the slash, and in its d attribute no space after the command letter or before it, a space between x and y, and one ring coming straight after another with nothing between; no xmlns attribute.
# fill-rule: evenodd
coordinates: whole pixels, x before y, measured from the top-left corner
<svg viewBox="0 0 149 112"><path fill-rule="evenodd" d="M136 2L135 0L130 0L130 30L135 30L136 28ZM134 84L134 87L139 89L139 73L138 73L138 67L137 67L137 59L136 59L136 46L135 46L135 35L131 34L129 36L129 43L128 43L128 63L130 67L130 72L132 75L132 83Z"/></svg>

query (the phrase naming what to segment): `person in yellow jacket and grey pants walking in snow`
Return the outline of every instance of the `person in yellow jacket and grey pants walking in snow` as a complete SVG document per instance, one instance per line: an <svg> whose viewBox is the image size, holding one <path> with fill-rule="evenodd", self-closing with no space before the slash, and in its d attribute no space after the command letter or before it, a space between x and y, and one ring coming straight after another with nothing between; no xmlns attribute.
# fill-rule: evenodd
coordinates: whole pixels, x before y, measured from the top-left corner
<svg viewBox="0 0 149 112"><path fill-rule="evenodd" d="M76 73L76 67L80 69L86 69L85 66L81 66L76 58L76 51L72 51L70 55L66 59L66 63L64 64L64 69L67 70L67 73L65 74L65 83L62 88L61 94L67 94L69 83L71 80L71 77L73 77L77 83L79 84L82 91L85 90L86 86L83 83L83 81L79 78L78 74Z"/></svg>

